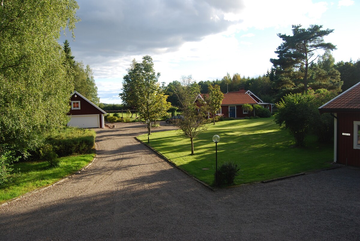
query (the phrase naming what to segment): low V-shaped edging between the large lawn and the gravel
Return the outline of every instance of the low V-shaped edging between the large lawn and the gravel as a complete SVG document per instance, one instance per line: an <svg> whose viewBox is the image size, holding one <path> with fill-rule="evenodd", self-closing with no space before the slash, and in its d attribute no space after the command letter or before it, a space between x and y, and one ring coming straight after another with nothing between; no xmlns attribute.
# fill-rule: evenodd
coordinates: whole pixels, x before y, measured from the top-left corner
<svg viewBox="0 0 360 241"><path fill-rule="evenodd" d="M138 142L144 144L145 146L147 146L148 148L150 148L151 150L153 150L153 152L155 152L159 157L161 157L162 159L164 159L166 162L170 163L173 167L176 167L177 169L181 170L182 172L186 173L186 175L192 177L194 180L200 182L202 185L206 186L207 188L213 190L213 191L218 191L218 190L222 190L222 189L228 189L231 187L237 187L237 186L244 186L244 185L250 185L250 184L256 184L256 183L268 183L268 182L274 182L274 181L280 181L280 180L284 180L284 179L289 179L292 177L297 177L297 176L302 176L305 174L310 174L310 173L314 173L314 172L320 172L320 171L327 171L327 170L332 170L332 169L337 169L340 168L341 166L334 166L334 167L328 167L328 168L324 168L324 169L320 169L320 170L316 170L316 171L312 171L312 172L302 172L302 173L297 173L295 175L291 175L291 176L285 176L285 177L279 177L279 178L275 178L275 179L271 179L271 180L266 180L266 181L261 181L261 182L253 182L253 183L248 183L248 184L240 184L240 185L234 185L234 186L227 186L224 188L219 188L219 187L211 187L209 185L207 185L206 183L196 179L195 177L193 177L192 175L190 175L188 172L184 171L183 169L181 169L180 167L176 166L174 163L172 163L171 161L169 161L165 156L163 156L161 153L159 153L157 150L155 150L154 148L150 147L149 145L147 145L145 142L142 142L141 140L139 140L137 137L135 137L135 140L137 140Z"/></svg>

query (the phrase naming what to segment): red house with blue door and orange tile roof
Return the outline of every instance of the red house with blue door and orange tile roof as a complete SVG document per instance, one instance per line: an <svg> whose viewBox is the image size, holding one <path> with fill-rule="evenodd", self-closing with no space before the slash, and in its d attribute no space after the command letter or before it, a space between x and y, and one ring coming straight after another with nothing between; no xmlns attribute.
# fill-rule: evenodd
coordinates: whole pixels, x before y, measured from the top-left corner
<svg viewBox="0 0 360 241"><path fill-rule="evenodd" d="M206 94L199 94L197 99L204 99L204 95ZM224 94L221 109L216 114L223 114L225 117L244 118L249 116L249 113L243 110L244 104L261 105L269 109L271 113L273 112L274 104L265 103L251 91L245 91L244 88L241 88L239 91Z"/></svg>

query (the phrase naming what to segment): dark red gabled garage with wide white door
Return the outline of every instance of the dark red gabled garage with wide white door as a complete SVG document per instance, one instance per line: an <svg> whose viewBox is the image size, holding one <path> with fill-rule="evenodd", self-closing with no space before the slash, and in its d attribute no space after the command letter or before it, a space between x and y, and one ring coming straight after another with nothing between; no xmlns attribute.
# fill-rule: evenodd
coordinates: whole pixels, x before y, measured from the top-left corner
<svg viewBox="0 0 360 241"><path fill-rule="evenodd" d="M68 126L104 128L104 115L107 113L76 91L72 93L70 106Z"/></svg>

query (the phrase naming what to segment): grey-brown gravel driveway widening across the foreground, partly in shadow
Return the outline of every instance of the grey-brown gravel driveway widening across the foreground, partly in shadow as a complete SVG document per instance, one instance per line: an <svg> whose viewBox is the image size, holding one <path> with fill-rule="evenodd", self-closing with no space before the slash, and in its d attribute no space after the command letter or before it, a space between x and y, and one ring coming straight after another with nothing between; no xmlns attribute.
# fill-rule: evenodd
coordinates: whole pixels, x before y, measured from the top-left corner
<svg viewBox="0 0 360 241"><path fill-rule="evenodd" d="M0 208L0 240L360 240L359 168L211 191L134 139L146 131L98 129L93 165Z"/></svg>

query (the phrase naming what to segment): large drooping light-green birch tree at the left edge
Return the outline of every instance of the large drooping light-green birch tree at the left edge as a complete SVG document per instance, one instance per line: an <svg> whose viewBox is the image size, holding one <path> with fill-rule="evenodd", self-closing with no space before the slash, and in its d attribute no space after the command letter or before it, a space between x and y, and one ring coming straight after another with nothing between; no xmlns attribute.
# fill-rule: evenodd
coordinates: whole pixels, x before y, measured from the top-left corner
<svg viewBox="0 0 360 241"><path fill-rule="evenodd" d="M59 45L75 28L78 5L64 1L10 1L0 6L0 152L26 153L42 131L67 123L71 77Z"/></svg>

